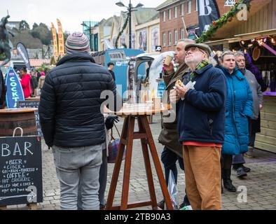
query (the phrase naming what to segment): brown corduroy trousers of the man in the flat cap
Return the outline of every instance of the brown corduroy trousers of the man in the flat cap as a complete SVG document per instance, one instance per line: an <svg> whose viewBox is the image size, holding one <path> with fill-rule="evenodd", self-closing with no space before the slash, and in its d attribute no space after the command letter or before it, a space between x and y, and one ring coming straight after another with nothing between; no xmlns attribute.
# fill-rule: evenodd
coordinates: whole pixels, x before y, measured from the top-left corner
<svg viewBox="0 0 276 224"><path fill-rule="evenodd" d="M221 210L221 148L184 146L188 199L193 210Z"/></svg>

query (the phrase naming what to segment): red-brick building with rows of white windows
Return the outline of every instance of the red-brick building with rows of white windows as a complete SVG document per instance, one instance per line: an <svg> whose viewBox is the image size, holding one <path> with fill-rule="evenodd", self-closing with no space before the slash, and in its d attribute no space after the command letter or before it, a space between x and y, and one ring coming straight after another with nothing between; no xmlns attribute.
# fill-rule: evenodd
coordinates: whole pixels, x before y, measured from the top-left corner
<svg viewBox="0 0 276 224"><path fill-rule="evenodd" d="M181 38L195 38L198 25L197 0L167 0L156 8L160 12L160 44L162 51L174 50ZM217 0L220 15L227 13L235 3ZM186 31L187 30L187 31Z"/></svg>

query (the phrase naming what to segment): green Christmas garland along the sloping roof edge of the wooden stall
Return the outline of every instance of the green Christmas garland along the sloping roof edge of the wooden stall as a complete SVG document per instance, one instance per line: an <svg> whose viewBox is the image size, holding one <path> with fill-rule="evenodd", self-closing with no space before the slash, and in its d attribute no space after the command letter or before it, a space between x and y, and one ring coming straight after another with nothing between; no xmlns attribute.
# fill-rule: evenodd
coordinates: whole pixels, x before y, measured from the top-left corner
<svg viewBox="0 0 276 224"><path fill-rule="evenodd" d="M226 14L224 14L221 18L219 18L219 20L213 21L213 24L210 25L209 29L205 32L202 33L202 35L200 36L200 38L198 38L198 40L196 41L197 43L203 43L205 41L207 41L208 38L210 38L211 36L214 35L214 33L216 32L217 29L224 27L224 25L226 25L227 22L231 22L233 20L233 17L235 17L235 15L237 15L237 13L240 11L240 9L238 9L238 6L241 3L244 3L247 5L247 10L250 10L250 1L251 0L239 0L235 3L235 6L233 6L230 11Z"/></svg>

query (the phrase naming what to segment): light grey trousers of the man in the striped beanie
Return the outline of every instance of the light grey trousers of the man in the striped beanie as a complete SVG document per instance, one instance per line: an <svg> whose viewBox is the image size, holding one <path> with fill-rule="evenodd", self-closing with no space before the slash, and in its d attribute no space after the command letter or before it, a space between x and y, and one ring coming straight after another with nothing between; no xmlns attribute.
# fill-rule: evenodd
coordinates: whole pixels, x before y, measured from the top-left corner
<svg viewBox="0 0 276 224"><path fill-rule="evenodd" d="M102 144L80 148L53 146L53 155L60 180L60 208L76 210L80 188L82 209L98 210Z"/></svg>

